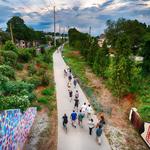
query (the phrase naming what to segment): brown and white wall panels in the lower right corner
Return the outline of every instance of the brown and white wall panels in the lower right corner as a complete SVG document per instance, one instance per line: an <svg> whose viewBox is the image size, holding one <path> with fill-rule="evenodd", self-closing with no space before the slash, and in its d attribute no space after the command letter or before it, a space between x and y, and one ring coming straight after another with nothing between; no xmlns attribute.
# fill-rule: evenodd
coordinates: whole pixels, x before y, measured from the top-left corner
<svg viewBox="0 0 150 150"><path fill-rule="evenodd" d="M132 108L129 115L129 120L135 127L135 129L140 133L141 137L150 147L150 123L143 122L136 108Z"/></svg>

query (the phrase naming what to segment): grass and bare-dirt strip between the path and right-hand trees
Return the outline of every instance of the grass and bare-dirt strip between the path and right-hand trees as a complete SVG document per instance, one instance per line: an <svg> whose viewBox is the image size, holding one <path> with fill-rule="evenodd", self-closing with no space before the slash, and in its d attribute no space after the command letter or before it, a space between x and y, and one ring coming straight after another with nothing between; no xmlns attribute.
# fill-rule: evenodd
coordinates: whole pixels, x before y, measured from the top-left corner
<svg viewBox="0 0 150 150"><path fill-rule="evenodd" d="M105 116L105 133L111 148L147 150L147 145L128 121L130 108L137 106L137 102L133 102L133 96L125 96L118 103L118 99L108 90L106 80L93 73L78 49L66 44L63 56L78 78L97 116Z"/></svg>

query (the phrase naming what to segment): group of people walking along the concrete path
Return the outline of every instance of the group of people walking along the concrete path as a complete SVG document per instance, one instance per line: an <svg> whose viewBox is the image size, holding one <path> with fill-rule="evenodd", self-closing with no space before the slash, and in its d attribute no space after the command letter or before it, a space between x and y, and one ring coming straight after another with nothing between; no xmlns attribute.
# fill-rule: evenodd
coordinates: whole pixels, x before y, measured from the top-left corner
<svg viewBox="0 0 150 150"><path fill-rule="evenodd" d="M86 102L79 107L79 91L77 90L77 78L73 77L72 71L70 68L64 69L64 78L67 78L67 87L70 102L74 101L73 111L70 115L71 124L74 128L80 126L83 128L83 120L87 118L89 121L86 125L89 128L89 135L93 134L93 129L95 128L95 134L98 144L101 144L101 135L105 125L105 119L103 116L100 117L100 120L95 123L93 119L93 109L90 104L87 105ZM63 115L63 126L67 129L68 124L68 115L65 113Z"/></svg>

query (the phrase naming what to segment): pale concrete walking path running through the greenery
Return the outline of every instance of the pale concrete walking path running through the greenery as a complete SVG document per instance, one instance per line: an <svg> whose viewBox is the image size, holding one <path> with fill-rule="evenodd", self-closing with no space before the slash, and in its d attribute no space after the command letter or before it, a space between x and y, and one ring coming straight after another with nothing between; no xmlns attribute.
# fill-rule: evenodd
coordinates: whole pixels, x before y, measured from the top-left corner
<svg viewBox="0 0 150 150"><path fill-rule="evenodd" d="M88 120L84 119L83 128L77 126L73 128L69 119L68 133L66 134L62 127L62 116L64 113L70 118L70 114L73 110L74 102L70 102L68 89L67 89L67 78L64 78L64 68L67 66L60 53L55 52L53 54L54 62L54 77L56 83L56 97L57 97L57 109L58 109L58 150L110 150L109 143L102 135L102 144L98 145L95 140L95 130L93 135L88 134ZM77 86L79 91L80 106L87 102L87 98L83 91ZM96 120L96 116L94 120Z"/></svg>

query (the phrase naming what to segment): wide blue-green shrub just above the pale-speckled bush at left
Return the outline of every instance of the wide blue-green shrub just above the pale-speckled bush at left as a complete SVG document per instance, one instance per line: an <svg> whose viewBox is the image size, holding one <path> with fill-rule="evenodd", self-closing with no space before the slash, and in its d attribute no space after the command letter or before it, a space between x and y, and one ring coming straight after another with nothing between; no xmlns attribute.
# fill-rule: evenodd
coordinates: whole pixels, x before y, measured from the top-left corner
<svg viewBox="0 0 150 150"><path fill-rule="evenodd" d="M23 90L32 92L33 89L34 89L33 84L29 84L23 81L8 81L4 87L5 95L18 94Z"/></svg>

